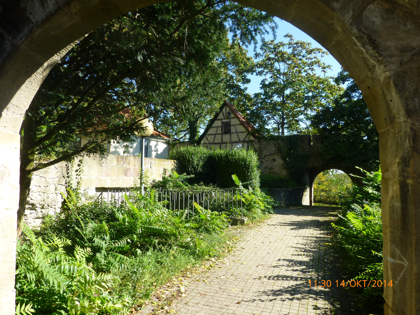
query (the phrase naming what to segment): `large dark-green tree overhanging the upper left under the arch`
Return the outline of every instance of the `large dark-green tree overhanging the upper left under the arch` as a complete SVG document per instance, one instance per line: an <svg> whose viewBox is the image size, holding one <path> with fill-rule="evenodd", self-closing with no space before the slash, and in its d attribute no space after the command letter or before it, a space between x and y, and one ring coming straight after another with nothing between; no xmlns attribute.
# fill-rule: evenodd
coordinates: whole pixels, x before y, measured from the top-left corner
<svg viewBox="0 0 420 315"><path fill-rule="evenodd" d="M243 54L235 45L256 42L268 28L275 28L272 16L243 5L186 0L124 14L81 39L52 68L26 111L19 223L32 172L82 152L104 154L110 140L129 143L142 117L157 127L168 117L185 122L195 139L200 118L212 114L226 82L237 77L226 70L234 65L228 52ZM232 48L228 29L238 38ZM228 57L220 57L225 51ZM163 131L179 133L178 125Z"/></svg>

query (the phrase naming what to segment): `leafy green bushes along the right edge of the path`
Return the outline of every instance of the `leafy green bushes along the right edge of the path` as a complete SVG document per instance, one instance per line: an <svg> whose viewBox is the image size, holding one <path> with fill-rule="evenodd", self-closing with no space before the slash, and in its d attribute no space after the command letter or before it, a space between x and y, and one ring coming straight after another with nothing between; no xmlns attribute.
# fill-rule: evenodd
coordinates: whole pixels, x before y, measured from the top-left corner
<svg viewBox="0 0 420 315"><path fill-rule="evenodd" d="M383 281L381 169L361 171L364 173L363 186L352 186L350 199L332 226L336 229L336 244L344 257L341 266L346 278ZM358 304L369 313L383 314L383 286L356 289L354 294Z"/></svg>

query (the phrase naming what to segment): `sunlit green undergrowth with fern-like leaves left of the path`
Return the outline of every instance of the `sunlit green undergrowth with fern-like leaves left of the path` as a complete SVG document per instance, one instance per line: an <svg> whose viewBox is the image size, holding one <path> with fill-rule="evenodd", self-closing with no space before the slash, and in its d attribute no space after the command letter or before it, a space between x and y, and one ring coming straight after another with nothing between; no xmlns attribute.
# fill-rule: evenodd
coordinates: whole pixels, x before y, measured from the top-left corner
<svg viewBox="0 0 420 315"><path fill-rule="evenodd" d="M228 217L194 206L187 219L166 209L151 190L131 194L121 205L78 200L73 210L47 217L38 236L25 229L31 237L18 244L16 304L42 314L126 313L176 271L220 255ZM32 255L38 253L34 244L46 251L42 259ZM32 270L36 275L27 276ZM74 301L84 304L76 309Z"/></svg>

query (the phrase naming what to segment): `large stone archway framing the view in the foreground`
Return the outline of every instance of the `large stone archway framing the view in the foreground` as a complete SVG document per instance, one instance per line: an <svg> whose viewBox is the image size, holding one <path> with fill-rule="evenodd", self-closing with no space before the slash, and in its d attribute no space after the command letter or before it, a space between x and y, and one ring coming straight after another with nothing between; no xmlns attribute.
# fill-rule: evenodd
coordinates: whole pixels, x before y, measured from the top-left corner
<svg viewBox="0 0 420 315"><path fill-rule="evenodd" d="M14 313L19 129L49 69L72 43L160 1L0 2L0 310ZM418 1L239 1L282 18L327 49L362 90L379 133L386 314L420 303L420 11Z"/></svg>

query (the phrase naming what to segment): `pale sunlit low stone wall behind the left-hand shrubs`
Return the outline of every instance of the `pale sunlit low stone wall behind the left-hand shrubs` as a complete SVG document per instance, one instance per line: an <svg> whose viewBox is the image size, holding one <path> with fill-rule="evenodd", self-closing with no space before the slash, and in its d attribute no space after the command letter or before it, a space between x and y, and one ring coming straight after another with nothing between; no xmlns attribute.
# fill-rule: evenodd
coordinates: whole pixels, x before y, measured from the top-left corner
<svg viewBox="0 0 420 315"><path fill-rule="evenodd" d="M141 157L112 155L85 157L82 163L81 189L88 195L96 195L97 187L125 188L134 184L139 177ZM76 162L73 165L62 162L34 172L31 191L25 211L25 222L37 226L42 217L60 211L66 192L66 180L71 173L75 179ZM162 179L164 169L176 168L175 160L144 158L144 170L147 178Z"/></svg>

